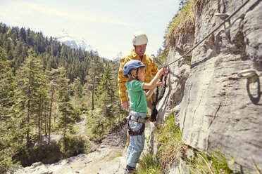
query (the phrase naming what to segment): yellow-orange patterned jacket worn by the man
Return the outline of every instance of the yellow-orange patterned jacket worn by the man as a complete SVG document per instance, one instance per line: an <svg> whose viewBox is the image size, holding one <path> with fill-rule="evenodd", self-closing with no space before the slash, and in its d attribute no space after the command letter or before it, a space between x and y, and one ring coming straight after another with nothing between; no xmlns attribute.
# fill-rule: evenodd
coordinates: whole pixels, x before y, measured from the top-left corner
<svg viewBox="0 0 262 174"><path fill-rule="evenodd" d="M121 102L127 102L127 96L125 95L127 88L125 86L125 83L128 81L127 78L123 75L123 67L126 62L130 60L140 60L139 55L135 53L134 50L130 52L129 55L126 55L124 58L121 58L120 60L120 67L118 71L118 87L119 87L119 95ZM146 65L146 77L144 78L145 83L149 83L151 81L151 77L155 76L158 72L158 69L156 67L156 64L152 58L149 57L149 55L144 54L143 55L143 61L144 65Z"/></svg>

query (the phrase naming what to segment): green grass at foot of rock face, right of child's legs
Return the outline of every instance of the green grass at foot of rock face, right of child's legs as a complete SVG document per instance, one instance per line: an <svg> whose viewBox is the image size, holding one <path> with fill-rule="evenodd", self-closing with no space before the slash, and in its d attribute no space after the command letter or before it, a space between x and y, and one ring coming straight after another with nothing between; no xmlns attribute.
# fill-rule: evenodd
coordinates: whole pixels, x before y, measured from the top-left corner
<svg viewBox="0 0 262 174"><path fill-rule="evenodd" d="M210 173L210 174L231 174L234 173L229 166L235 163L232 157L227 161L225 154L217 151L201 152L192 149L182 142L182 133L175 124L174 113L166 118L163 125L156 126L154 131L158 152L156 156L151 153L142 157L141 166L136 173L164 173L168 166L177 166L179 161L187 163L187 170L190 174ZM192 149L193 156L187 157L187 152ZM190 158L190 159L189 159Z"/></svg>

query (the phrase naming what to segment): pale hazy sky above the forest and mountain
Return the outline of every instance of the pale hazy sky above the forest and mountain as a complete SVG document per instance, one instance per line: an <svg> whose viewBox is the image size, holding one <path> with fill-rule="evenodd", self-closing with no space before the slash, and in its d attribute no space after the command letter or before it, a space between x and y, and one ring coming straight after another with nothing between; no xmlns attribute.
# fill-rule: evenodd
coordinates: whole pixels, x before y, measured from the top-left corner
<svg viewBox="0 0 262 174"><path fill-rule="evenodd" d="M113 60L134 48L132 34L146 33L146 54L157 55L178 10L179 0L1 0L0 22L44 36L66 29L85 38L103 58Z"/></svg>

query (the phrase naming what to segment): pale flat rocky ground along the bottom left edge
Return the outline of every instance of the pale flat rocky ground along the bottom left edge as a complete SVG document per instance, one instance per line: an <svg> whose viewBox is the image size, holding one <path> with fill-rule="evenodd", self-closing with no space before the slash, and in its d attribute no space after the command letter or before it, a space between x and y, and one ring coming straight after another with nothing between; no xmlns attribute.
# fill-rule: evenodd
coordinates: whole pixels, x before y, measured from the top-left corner
<svg viewBox="0 0 262 174"><path fill-rule="evenodd" d="M98 173L100 167L104 163L108 163L115 159L120 161L119 163L114 163L115 168L111 168L111 171L116 173L124 173L125 171L125 157L118 157L119 154L123 152L123 149L111 149L106 147L100 147L90 154L79 154L77 156L70 157L68 159L63 159L57 163L44 164L42 162L32 163L31 166L22 168L15 171L15 174L70 174L70 173ZM118 157L118 158L116 158ZM105 171L108 171L108 168ZM101 172L103 173L103 172Z"/></svg>

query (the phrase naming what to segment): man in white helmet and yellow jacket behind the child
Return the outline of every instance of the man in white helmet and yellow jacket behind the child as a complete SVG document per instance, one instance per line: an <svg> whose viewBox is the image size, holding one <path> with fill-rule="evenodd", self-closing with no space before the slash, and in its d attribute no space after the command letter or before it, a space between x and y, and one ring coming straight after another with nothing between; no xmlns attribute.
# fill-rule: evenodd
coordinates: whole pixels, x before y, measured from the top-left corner
<svg viewBox="0 0 262 174"><path fill-rule="evenodd" d="M158 72L154 60L150 58L149 55L145 54L146 44L148 43L146 34L144 34L144 32L135 32L133 34L132 43L135 49L133 49L130 52L130 54L126 55L124 58L121 58L120 67L118 71L118 87L119 87L120 99L123 109L126 110L130 110L130 107L127 101L127 96L125 94L127 91L125 83L128 80L123 75L123 68L125 63L130 60L140 60L141 62L143 62L144 65L146 66L146 77L144 79L145 83L150 83L151 77L155 76L156 73Z"/></svg>

